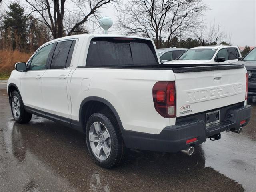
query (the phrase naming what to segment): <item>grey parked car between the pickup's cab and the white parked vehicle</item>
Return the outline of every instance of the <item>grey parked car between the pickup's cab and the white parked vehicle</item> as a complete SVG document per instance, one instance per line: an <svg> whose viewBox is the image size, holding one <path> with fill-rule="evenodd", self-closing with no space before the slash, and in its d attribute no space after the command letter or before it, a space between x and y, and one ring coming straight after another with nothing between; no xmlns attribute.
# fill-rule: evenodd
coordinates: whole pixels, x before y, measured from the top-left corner
<svg viewBox="0 0 256 192"><path fill-rule="evenodd" d="M188 49L184 48L167 48L167 49L158 49L158 55L161 63L175 60Z"/></svg>

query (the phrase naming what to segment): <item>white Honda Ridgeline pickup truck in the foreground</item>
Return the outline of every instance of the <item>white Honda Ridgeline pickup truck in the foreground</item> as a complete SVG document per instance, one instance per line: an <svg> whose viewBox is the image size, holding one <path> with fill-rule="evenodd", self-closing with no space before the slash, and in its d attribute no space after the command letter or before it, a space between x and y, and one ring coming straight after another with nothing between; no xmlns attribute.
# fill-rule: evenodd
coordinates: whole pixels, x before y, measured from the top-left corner
<svg viewBox="0 0 256 192"><path fill-rule="evenodd" d="M250 120L243 65L160 64L147 38L59 38L15 69L7 89L16 122L35 114L83 132L105 168L117 166L126 148L191 155Z"/></svg>

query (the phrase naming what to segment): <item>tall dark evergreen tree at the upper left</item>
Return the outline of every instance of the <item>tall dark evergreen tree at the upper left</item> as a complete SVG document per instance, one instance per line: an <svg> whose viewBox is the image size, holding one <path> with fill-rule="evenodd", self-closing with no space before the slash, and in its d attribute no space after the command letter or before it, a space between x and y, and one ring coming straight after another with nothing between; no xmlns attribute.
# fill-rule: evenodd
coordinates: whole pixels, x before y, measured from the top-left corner
<svg viewBox="0 0 256 192"><path fill-rule="evenodd" d="M2 28L5 30L5 37L12 41L12 49L21 50L27 42L28 17L24 14L24 8L18 3L11 3L8 8Z"/></svg>

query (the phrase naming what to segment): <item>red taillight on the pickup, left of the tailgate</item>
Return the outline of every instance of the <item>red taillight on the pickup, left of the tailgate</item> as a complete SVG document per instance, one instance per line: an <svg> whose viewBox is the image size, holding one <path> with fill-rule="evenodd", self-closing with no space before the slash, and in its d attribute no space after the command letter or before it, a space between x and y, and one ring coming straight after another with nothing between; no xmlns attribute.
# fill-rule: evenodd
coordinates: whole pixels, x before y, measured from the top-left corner
<svg viewBox="0 0 256 192"><path fill-rule="evenodd" d="M175 115L175 81L159 81L153 86L153 101L156 111L164 118Z"/></svg>

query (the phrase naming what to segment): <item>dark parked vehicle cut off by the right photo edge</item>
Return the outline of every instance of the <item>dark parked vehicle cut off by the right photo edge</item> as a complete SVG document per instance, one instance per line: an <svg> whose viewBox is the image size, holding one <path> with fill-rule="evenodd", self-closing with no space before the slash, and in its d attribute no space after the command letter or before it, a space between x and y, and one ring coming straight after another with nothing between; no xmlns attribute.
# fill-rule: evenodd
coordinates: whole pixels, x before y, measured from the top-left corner
<svg viewBox="0 0 256 192"><path fill-rule="evenodd" d="M248 97L256 101L256 48L250 50L242 60L234 64L243 64L248 73Z"/></svg>

